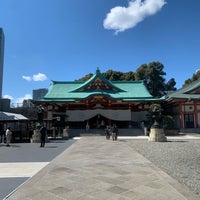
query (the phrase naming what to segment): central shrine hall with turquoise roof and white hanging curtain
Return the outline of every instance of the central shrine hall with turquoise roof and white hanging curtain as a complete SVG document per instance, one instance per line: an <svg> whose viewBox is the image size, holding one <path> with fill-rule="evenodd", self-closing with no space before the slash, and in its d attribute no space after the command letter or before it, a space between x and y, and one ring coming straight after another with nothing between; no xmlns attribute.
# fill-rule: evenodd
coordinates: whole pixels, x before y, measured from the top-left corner
<svg viewBox="0 0 200 200"><path fill-rule="evenodd" d="M95 129L137 127L149 106L160 101L143 81L109 81L97 69L86 82L53 81L45 97L33 103L44 108L48 126Z"/></svg>

